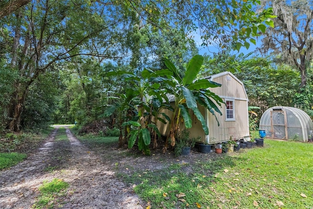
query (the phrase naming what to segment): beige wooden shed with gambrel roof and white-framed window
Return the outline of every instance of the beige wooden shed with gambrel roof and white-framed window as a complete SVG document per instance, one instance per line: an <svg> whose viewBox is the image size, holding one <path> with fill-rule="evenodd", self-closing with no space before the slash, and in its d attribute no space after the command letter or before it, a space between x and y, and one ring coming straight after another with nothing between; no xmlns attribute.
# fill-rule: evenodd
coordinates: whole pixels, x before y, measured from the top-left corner
<svg viewBox="0 0 313 209"><path fill-rule="evenodd" d="M223 115L216 114L220 123L218 126L215 117L206 108L198 105L201 114L205 116L209 135L205 135L201 122L190 113L194 118L192 127L189 129L190 137L201 137L201 142L209 144L227 141L230 137L232 139L249 139L248 97L244 84L228 71L205 78L222 84L221 87L212 88L210 91L219 95L225 102L220 109ZM170 96L169 101L171 101ZM168 110L164 110L164 112L171 116ZM168 133L169 124L159 122L157 126L161 134Z"/></svg>

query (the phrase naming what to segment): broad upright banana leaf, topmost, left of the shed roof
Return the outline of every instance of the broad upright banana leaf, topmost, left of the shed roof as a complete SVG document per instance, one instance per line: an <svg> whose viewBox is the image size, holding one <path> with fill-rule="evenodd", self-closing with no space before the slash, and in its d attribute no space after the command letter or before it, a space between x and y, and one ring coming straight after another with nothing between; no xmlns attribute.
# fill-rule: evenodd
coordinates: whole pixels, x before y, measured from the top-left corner
<svg viewBox="0 0 313 209"><path fill-rule="evenodd" d="M183 85L191 84L197 77L201 65L203 63L203 57L201 55L195 55L188 63L185 76L182 79Z"/></svg>

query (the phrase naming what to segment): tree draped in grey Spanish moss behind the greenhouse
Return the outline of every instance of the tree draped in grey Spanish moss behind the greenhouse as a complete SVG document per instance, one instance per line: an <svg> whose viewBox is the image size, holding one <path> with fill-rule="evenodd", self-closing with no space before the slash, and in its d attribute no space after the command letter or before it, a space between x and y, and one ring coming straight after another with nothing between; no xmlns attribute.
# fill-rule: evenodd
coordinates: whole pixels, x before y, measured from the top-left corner
<svg viewBox="0 0 313 209"><path fill-rule="evenodd" d="M307 69L313 58L313 9L310 0L263 0L272 6L274 27L266 30L260 50L278 55L277 60L300 71L300 90L307 84Z"/></svg>

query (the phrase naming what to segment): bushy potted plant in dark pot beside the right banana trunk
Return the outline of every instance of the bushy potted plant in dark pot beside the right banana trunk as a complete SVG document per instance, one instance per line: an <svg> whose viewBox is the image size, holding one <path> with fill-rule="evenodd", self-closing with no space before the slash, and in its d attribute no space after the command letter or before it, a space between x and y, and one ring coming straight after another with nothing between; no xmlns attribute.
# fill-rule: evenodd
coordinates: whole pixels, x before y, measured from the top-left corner
<svg viewBox="0 0 313 209"><path fill-rule="evenodd" d="M179 136L174 148L174 154L176 157L179 155L189 155L191 147L195 146L197 139L190 138L189 135L190 132L186 129L179 132Z"/></svg>

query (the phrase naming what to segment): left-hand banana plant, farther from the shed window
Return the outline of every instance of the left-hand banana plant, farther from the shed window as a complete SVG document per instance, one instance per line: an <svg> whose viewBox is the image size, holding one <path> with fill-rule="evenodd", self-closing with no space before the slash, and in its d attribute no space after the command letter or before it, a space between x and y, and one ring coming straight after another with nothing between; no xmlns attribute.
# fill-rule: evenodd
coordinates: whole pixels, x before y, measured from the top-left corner
<svg viewBox="0 0 313 209"><path fill-rule="evenodd" d="M131 84L126 92L133 91L132 96L135 95L132 101L138 110L137 117L135 120L124 122L122 126L134 128L128 133L128 147L132 148L137 141L138 149L143 154L150 155L151 134L154 136L154 144L156 145L156 135L160 136L156 122L157 120L163 122L162 118L158 116L158 109L164 97L162 91L159 90L160 85L151 84L146 75L140 77L132 72L119 71L108 73L108 75L121 75L126 82ZM152 116L154 116L153 121L151 120Z"/></svg>

